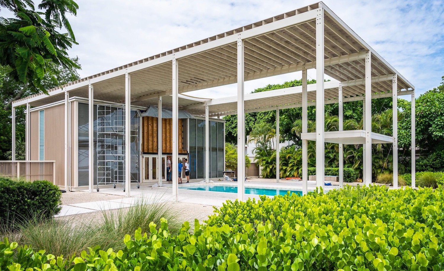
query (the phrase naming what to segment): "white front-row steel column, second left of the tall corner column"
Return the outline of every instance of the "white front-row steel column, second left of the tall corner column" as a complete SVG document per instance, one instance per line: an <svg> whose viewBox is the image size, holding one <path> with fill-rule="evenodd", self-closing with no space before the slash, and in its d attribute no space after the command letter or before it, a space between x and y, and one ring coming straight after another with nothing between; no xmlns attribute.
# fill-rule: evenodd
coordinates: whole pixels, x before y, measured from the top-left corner
<svg viewBox="0 0 444 271"><path fill-rule="evenodd" d="M172 91L173 91L173 137L172 137L172 141L173 141L173 159L171 160L171 172L172 172L172 180L173 180L173 197L174 200L177 201L178 200L178 193L179 193L179 189L178 189L178 159L179 159L179 149L178 149L178 138L179 138L179 133L178 133L178 107L179 107L179 100L178 100L178 95L179 95L179 79L178 79L178 63L177 63L177 59L173 58L173 86L172 86ZM188 163L189 165L189 163Z"/></svg>

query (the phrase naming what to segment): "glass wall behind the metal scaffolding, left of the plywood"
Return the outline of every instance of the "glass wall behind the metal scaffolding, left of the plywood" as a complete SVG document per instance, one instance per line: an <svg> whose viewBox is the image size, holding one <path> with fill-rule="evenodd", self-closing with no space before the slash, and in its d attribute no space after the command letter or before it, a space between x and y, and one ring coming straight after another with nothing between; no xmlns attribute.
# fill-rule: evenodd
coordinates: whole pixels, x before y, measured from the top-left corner
<svg viewBox="0 0 444 271"><path fill-rule="evenodd" d="M110 106L108 106L110 107ZM103 157L107 159L100 158L98 162L98 153L97 153L97 106L94 106L94 130L93 130L93 157L94 157L94 167L96 170L94 170L94 185L97 184L97 172L99 171L99 177L100 180L105 181L106 183L111 183L114 180L115 181L123 181L119 177L115 177L115 175L122 175L123 174L123 162L121 163L108 163L103 160L109 160L112 156L113 160L115 160L115 157L119 157L119 151L122 152L124 148L124 141L123 137L119 136L119 131L117 133L114 133L116 131L111 131L109 127L103 128L103 126L111 126L111 122L113 125L117 124L119 126L119 118L116 117L119 115L119 111L122 111L121 109L118 109L117 107L111 106L110 110L103 110L104 106L99 106L99 111L101 112L100 116L100 125L101 131L104 132L104 134L100 136L99 138L99 147L101 150L105 148L104 146L108 146L110 149L109 153L101 152L102 154L105 153ZM108 112L108 113L107 113ZM88 104L79 102L79 111L78 111L78 185L79 186L86 186L89 183L89 116L88 116ZM103 121L106 121L104 123ZM131 180L137 180L139 178L139 140L138 140L138 131L139 131L139 114L137 110L131 110ZM105 133L106 132L106 133ZM109 144L108 144L109 143ZM103 145L103 146L101 146ZM112 149L112 151L111 151ZM116 154L117 153L117 154ZM116 155L117 156L116 156ZM101 156L101 157L102 157ZM121 156L123 159L123 156ZM111 158L110 158L111 159ZM117 159L118 160L118 159ZM112 165L111 165L112 164ZM105 170L106 169L106 170ZM109 169L109 170L108 170ZM109 171L109 173L104 173L104 171ZM107 176L103 179L104 176ZM102 182L101 182L102 184Z"/></svg>

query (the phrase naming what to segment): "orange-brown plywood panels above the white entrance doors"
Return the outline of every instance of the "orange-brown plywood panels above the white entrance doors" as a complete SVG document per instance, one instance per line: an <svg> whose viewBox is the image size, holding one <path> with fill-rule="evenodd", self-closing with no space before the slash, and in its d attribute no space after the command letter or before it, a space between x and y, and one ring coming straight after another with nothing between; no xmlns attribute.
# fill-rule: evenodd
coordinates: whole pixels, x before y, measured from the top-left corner
<svg viewBox="0 0 444 271"><path fill-rule="evenodd" d="M171 138L173 129L173 119L162 119L162 152L172 153L173 142ZM186 149L183 148L183 122L179 119L178 122L178 134L179 134L179 153L186 153ZM142 118L142 151L144 153L157 153L157 118L155 117L143 117Z"/></svg>

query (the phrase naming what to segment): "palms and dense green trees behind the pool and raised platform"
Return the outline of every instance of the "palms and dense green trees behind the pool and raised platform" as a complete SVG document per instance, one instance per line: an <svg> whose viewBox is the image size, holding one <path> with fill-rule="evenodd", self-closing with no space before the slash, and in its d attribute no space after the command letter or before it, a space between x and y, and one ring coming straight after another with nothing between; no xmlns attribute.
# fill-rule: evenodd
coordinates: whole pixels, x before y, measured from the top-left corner
<svg viewBox="0 0 444 271"><path fill-rule="evenodd" d="M282 85L269 85L257 91L266 91L287 87L287 85L300 85L300 80L285 82ZM393 112L391 98L372 100L372 131L385 135L392 135ZM411 169L411 103L398 100L398 171L399 173L410 172ZM293 110L293 111L291 111ZM281 177L297 177L298 169L301 168L301 108L281 110L280 134L282 140L293 140L291 147L280 150ZM430 90L416 99L416 145L421 148L423 155L416 161L417 171L443 171L444 170L444 121L442 110L444 110L444 77L441 86ZM295 113L297 111L297 113ZM308 108L308 132L316 130L314 121L314 107ZM344 130L360 130L363 127L362 101L344 103ZM262 114L262 115L261 115ZM273 148L275 112L268 111L246 117L247 130L250 137L254 135L256 145L255 160L261 165L262 176L274 178L276 176L276 152ZM289 119L293 123L289 124ZM231 134L235 134L236 126L231 125L231 116L226 118ZM252 124L254 123L254 124ZM274 123L274 124L273 124ZM284 123L282 125L282 123ZM250 128L249 128L250 127ZM337 117L337 104L325 105L325 130L335 131L339 129L339 118ZM261 133L262 134L258 134ZM251 134L253 133L253 134ZM228 138L230 135L226 134ZM260 139L262 140L256 140ZM267 139L267 140L265 140ZM264 143L268 145L264 145ZM293 147L295 146L295 147ZM433 147L432 147L433 146ZM315 142L308 141L308 165L314 167L316 164ZM382 173L391 173L393 168L392 144L372 145L372 175L373 178ZM325 166L338 167L339 147L337 144L325 144ZM363 148L362 145L344 145L344 167L355 170L359 178L362 177Z"/></svg>

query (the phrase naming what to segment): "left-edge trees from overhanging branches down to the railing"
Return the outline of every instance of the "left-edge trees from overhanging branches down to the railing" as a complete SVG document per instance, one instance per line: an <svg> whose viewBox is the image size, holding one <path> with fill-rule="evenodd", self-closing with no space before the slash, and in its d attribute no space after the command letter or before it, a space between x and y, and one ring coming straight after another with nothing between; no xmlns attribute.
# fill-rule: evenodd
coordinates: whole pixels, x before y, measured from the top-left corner
<svg viewBox="0 0 444 271"><path fill-rule="evenodd" d="M39 3L0 1L0 7L13 14L0 19L0 160L11 156L7 152L12 145L12 101L79 79L78 59L67 54L77 44L68 17L76 14L78 5L73 0ZM16 108L18 148L24 146L24 110L24 106ZM20 158L23 155L16 157Z"/></svg>

